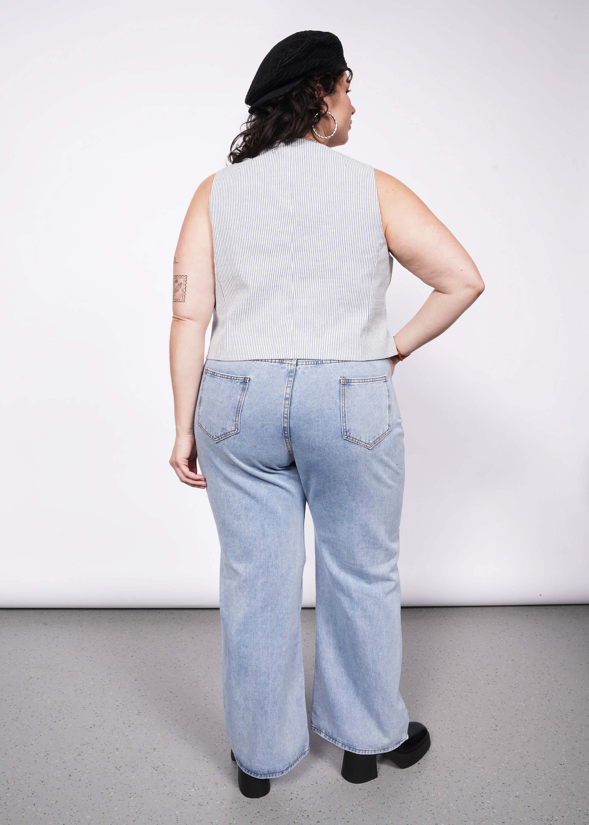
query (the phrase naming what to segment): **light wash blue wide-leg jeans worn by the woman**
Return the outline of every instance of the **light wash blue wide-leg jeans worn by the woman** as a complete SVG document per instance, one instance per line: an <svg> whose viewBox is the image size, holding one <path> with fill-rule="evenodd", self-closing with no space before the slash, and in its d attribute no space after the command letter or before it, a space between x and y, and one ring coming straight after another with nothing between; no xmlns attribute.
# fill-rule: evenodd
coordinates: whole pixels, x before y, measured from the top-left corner
<svg viewBox="0 0 589 825"><path fill-rule="evenodd" d="M221 546L223 699L238 765L281 776L309 752L300 609L315 528L311 727L381 753L408 738L398 691L403 427L388 359L207 359L195 414Z"/></svg>

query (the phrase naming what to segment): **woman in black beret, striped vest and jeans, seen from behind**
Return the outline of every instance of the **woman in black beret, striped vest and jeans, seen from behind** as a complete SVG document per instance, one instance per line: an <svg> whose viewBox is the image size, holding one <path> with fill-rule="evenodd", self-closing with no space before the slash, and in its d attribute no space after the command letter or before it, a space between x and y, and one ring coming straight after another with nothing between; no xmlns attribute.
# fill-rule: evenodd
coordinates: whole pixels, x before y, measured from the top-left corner
<svg viewBox="0 0 589 825"><path fill-rule="evenodd" d="M196 190L174 258L170 464L206 488L219 532L225 721L248 797L309 752L306 502L311 727L342 748L342 775L356 783L375 778L377 754L408 767L430 746L398 691L404 448L392 376L484 285L407 186L333 151L356 111L350 81L329 32L296 32L266 55L231 163ZM392 256L433 289L394 337Z"/></svg>

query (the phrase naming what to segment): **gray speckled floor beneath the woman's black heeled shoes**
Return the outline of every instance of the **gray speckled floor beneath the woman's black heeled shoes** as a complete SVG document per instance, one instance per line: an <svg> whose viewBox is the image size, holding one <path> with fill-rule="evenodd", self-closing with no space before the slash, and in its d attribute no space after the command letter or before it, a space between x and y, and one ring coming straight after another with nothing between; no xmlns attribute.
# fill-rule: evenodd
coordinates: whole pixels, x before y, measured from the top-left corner
<svg viewBox="0 0 589 825"><path fill-rule="evenodd" d="M310 705L314 610L303 611ZM403 609L417 765L349 785L311 753L244 799L218 610L2 610L2 825L589 823L589 606Z"/></svg>

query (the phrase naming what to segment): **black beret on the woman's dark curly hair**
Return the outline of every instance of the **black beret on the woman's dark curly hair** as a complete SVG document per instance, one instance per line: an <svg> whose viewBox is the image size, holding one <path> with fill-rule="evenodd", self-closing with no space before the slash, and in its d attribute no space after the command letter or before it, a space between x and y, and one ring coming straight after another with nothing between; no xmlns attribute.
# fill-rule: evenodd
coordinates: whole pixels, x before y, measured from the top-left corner
<svg viewBox="0 0 589 825"><path fill-rule="evenodd" d="M290 92L309 74L346 68L342 43L331 31L295 31L276 43L262 60L247 90L251 112L262 103Z"/></svg>

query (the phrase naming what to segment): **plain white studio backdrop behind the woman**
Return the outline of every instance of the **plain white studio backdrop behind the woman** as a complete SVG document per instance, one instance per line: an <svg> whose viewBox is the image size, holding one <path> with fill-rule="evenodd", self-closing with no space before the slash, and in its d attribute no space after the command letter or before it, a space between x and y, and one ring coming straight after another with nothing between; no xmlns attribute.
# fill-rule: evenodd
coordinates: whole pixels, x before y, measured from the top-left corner
<svg viewBox="0 0 589 825"><path fill-rule="evenodd" d="M167 464L172 254L260 60L305 28L355 73L341 151L416 191L486 283L395 370L403 604L588 601L586 14L2 4L2 606L218 605L206 493ZM391 332L429 291L395 264Z"/></svg>

